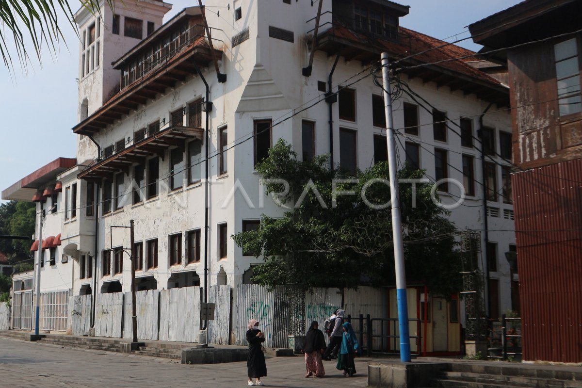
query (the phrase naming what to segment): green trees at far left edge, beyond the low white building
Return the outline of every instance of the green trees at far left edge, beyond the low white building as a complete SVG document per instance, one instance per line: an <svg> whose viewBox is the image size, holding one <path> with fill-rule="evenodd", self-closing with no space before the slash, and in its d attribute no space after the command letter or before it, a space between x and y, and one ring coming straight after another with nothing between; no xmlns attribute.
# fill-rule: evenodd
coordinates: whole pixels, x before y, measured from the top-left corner
<svg viewBox="0 0 582 388"><path fill-rule="evenodd" d="M31 202L10 201L0 205L0 234L10 236L32 236L34 234L34 212ZM16 262L31 257L30 240L0 239L0 252Z"/></svg>

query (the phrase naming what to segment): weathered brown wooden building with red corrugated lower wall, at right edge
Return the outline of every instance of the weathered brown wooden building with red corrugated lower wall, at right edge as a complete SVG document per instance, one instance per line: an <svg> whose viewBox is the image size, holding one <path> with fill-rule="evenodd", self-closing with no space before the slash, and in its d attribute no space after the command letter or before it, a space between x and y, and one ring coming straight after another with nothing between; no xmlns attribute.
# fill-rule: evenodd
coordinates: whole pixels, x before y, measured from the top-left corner
<svg viewBox="0 0 582 388"><path fill-rule="evenodd" d="M580 1L528 0L470 26L506 60L524 359L582 361ZM540 28L543 26L543 28Z"/></svg>

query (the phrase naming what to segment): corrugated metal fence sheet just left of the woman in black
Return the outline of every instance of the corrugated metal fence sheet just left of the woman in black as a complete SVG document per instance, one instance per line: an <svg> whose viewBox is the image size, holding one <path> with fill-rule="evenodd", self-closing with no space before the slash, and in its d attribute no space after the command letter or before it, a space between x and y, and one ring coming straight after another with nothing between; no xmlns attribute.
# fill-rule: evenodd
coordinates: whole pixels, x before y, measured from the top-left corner
<svg viewBox="0 0 582 388"><path fill-rule="evenodd" d="M208 342L228 345L230 337L230 286L211 286L208 302L215 303L214 321L208 322Z"/></svg>

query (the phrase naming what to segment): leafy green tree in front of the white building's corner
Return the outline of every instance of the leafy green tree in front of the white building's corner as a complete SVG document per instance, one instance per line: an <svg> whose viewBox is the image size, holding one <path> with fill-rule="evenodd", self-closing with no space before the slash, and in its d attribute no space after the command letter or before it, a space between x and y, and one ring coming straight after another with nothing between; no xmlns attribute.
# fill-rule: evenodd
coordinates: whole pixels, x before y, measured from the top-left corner
<svg viewBox="0 0 582 388"><path fill-rule="evenodd" d="M244 251L264 257L264 264L254 268L254 282L300 289L395 284L391 208L386 206L390 190L372 181L388 180L388 164L377 163L350 177L342 170L332 173L328 163L326 155L298 161L292 147L279 140L256 166L267 193L287 210L281 218L262 215L258 230L233 236ZM420 179L423 174L405 165L399 178ZM353 179L336 181L335 192L354 195L333 195L332 179ZM278 195L286 191L283 181L289 184L288 193ZM385 206L366 204L360 195L364 187L369 204ZM458 293L462 279L457 229L431 200L431 186L416 184L413 206L413 185L401 184L400 204L409 284L427 284L444 297Z"/></svg>

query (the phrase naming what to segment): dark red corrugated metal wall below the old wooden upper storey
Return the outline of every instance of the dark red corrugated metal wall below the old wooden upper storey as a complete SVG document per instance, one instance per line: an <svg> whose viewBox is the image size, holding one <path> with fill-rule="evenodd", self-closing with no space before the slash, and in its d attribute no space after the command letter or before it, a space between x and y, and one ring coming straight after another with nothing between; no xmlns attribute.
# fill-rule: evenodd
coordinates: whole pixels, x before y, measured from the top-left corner
<svg viewBox="0 0 582 388"><path fill-rule="evenodd" d="M523 359L582 362L582 159L513 175Z"/></svg>

